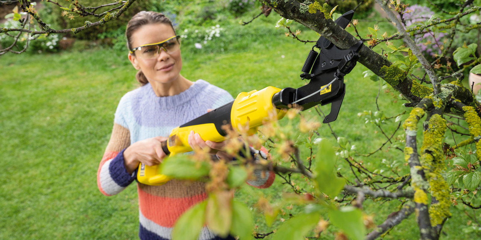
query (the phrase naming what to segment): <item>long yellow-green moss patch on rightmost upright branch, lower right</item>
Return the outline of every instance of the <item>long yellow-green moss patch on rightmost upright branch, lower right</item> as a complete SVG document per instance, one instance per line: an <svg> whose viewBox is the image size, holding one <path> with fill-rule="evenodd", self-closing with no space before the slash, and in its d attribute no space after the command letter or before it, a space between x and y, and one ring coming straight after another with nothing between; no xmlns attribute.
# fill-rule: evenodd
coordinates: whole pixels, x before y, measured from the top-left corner
<svg viewBox="0 0 481 240"><path fill-rule="evenodd" d="M445 132L446 120L439 114L432 115L427 129L423 132L421 146L421 164L425 173L427 172L425 176L430 185L430 194L438 201L436 204L431 204L429 208L432 226L443 223L444 218L451 216L449 187L442 176L446 170L442 148Z"/></svg>

